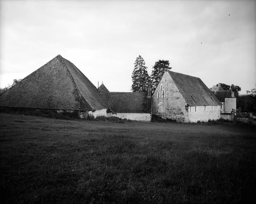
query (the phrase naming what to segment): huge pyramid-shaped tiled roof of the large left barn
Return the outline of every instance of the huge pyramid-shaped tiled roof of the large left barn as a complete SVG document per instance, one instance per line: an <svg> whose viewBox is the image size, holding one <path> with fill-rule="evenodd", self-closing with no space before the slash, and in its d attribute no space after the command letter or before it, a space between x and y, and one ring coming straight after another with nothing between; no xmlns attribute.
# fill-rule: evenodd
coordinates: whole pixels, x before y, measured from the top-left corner
<svg viewBox="0 0 256 204"><path fill-rule="evenodd" d="M61 55L3 92L0 106L80 111L108 108L98 89Z"/></svg>

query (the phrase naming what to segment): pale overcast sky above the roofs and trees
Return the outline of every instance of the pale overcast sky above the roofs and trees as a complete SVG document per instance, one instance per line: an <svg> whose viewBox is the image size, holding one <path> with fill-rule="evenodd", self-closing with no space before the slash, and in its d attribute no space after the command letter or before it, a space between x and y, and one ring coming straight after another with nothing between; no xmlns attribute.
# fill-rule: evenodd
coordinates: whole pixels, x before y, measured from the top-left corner
<svg viewBox="0 0 256 204"><path fill-rule="evenodd" d="M141 55L208 86L256 84L256 1L0 0L0 87L58 54L97 86L130 91Z"/></svg>

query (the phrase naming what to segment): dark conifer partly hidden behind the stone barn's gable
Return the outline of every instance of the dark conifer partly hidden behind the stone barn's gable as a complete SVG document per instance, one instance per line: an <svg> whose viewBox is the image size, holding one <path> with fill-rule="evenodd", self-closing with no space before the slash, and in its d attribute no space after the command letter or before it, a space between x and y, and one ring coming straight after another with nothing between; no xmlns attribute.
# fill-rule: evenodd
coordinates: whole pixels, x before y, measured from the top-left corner
<svg viewBox="0 0 256 204"><path fill-rule="evenodd" d="M153 70L151 72L151 82L152 82L152 91L154 92L159 81L161 80L163 73L166 70L172 69L169 67L169 60L158 60L153 66Z"/></svg>

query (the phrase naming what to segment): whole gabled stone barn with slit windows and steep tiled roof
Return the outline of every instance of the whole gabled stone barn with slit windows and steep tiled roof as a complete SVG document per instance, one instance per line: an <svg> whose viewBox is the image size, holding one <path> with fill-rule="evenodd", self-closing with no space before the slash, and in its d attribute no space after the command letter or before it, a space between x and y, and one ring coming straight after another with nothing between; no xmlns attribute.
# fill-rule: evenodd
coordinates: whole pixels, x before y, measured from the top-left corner
<svg viewBox="0 0 256 204"><path fill-rule="evenodd" d="M220 101L197 77L166 71L152 100L153 114L178 122L207 122L220 118Z"/></svg>

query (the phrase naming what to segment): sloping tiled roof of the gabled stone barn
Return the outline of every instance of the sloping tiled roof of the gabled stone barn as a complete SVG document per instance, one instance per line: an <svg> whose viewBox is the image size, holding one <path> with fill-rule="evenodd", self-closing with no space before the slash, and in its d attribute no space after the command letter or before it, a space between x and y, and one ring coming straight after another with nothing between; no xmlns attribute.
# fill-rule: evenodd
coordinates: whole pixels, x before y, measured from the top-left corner
<svg viewBox="0 0 256 204"><path fill-rule="evenodd" d="M221 105L204 82L198 77L167 71L189 106Z"/></svg>

